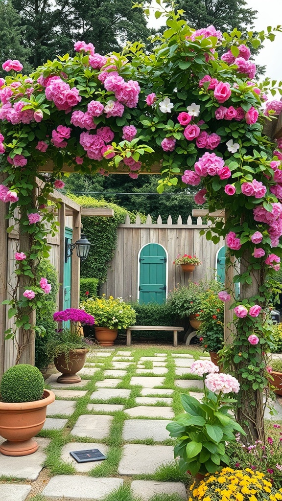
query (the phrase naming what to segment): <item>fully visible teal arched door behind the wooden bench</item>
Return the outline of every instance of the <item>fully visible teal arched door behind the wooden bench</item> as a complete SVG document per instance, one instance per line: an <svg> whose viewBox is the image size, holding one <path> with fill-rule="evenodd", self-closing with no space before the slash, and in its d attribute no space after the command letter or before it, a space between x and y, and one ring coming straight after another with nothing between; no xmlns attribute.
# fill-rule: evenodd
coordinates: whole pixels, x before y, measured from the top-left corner
<svg viewBox="0 0 282 501"><path fill-rule="evenodd" d="M139 303L162 304L167 298L167 253L159 243L148 243L139 253Z"/></svg>

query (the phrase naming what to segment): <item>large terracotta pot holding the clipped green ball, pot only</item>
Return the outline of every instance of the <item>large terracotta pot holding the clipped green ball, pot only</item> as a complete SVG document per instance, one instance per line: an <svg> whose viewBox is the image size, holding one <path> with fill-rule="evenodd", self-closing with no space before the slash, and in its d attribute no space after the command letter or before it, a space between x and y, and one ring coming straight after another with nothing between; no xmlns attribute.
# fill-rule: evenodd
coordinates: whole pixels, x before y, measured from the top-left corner
<svg viewBox="0 0 282 501"><path fill-rule="evenodd" d="M38 449L32 439L42 430L46 419L46 408L55 400L51 390L44 390L43 398L35 402L0 402L0 435L7 438L0 445L0 452L6 456L27 456Z"/></svg>

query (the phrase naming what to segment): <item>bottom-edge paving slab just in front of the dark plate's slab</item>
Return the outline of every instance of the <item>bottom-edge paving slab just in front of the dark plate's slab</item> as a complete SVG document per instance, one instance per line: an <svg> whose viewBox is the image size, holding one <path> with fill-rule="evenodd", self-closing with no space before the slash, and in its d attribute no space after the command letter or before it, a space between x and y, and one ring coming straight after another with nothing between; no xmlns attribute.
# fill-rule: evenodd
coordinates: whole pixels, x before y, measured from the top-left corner
<svg viewBox="0 0 282 501"><path fill-rule="evenodd" d="M79 475L56 475L50 479L42 494L51 498L102 499L123 484L121 478L91 478Z"/></svg>

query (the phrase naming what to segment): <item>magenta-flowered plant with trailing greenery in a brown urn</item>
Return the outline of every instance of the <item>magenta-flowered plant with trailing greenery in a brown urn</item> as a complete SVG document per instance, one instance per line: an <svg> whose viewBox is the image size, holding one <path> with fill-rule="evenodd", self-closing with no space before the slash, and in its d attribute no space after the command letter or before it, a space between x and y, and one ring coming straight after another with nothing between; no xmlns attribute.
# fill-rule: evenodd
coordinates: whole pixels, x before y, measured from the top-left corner
<svg viewBox="0 0 282 501"><path fill-rule="evenodd" d="M50 337L47 350L54 358L55 367L62 373L59 383L79 383L81 377L76 374L85 363L88 353L83 326L94 325L95 319L83 310L68 308L53 315L55 322L68 322L69 327L58 329Z"/></svg>

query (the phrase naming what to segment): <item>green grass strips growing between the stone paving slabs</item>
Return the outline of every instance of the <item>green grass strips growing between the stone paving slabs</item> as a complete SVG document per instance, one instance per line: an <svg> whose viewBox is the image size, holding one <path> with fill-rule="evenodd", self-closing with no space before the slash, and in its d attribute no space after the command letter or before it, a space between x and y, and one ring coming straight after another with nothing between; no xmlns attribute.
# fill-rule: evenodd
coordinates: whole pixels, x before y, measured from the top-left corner
<svg viewBox="0 0 282 501"><path fill-rule="evenodd" d="M129 365L126 368L126 374L125 376L108 376L104 375L105 370L114 370L112 365L111 365L111 360L112 357L116 355L117 351L131 351L131 356L134 358L134 365ZM168 395L170 398L173 398L173 403L172 403L172 408L174 410L174 413L180 414L183 412L183 407L181 405L180 401L180 395L181 393L188 393L188 389L186 388L180 388L180 387L175 387L174 385L174 380L175 379L201 379L198 378L197 376L187 374L184 376L176 376L175 375L175 363L174 363L174 357L171 356L172 353L183 353L183 354L192 354L195 359L198 359L199 356L202 355L202 352L200 350L188 350L188 349L177 349L173 348L171 350L165 349L163 347L146 347L146 348L136 348L134 347L126 347L124 349L118 347L117 349L113 350L111 352L111 355L109 357L105 358L100 358L98 355L95 353L93 354L93 357L89 357L87 359L87 362L99 362L102 363L103 365L99 367L100 370L96 371L93 375L83 375L82 379L90 380L89 383L82 387L82 390L86 390L87 393L86 395L82 397L74 397L73 400L76 401L75 404L75 410L71 416L63 415L63 414L58 414L54 415L52 417L64 417L68 419L67 424L64 426L62 430L43 430L40 432L40 436L47 437L51 439L50 444L46 447L46 453L47 457L46 460L44 461L44 466L46 466L49 470L50 475L55 475L55 474L78 474L77 471L75 470L73 464L69 461L63 461L61 459L61 450L64 445L66 445L69 442L84 442L84 443L91 443L93 441L99 441L100 443L104 443L107 445L108 452L107 452L107 460L101 462L99 465L94 466L91 468L86 474L89 476L93 477L109 477L109 476L118 476L117 470L118 470L118 464L121 459L122 455L122 445L126 443L136 443L136 444L146 444L146 445L174 445L174 439L168 438L162 442L156 442L153 440L153 438L146 438L144 440L130 440L130 441L123 441L122 439L122 429L123 429L123 423L124 420L129 419L128 414L126 413L126 409L131 408L131 407L136 407L139 404L135 402L135 398L138 396L142 396L141 390L142 386L131 386L130 385L130 380L132 376L148 376L150 377L150 374L136 374L136 362L140 360L141 357L143 356L148 356L148 357L154 357L155 353L166 353L167 354L167 360L166 360L166 368L168 369L168 372L166 374L152 374L153 377L163 377L164 378L164 383L159 387L162 389L173 389L174 393L173 395ZM160 357L161 358L161 357ZM148 366L148 368L152 368L152 361L144 361L144 365ZM118 383L116 388L123 388L123 389L130 389L130 395L128 398L122 398L122 397L112 397L108 400L101 400L101 399L91 399L91 394L98 389L96 386L96 382L102 381L103 379L122 379L122 382ZM156 398L160 395L158 395L158 387L154 388L156 390ZM190 391L201 391L199 388L191 388ZM151 396L151 395L150 395ZM154 396L154 395L152 395ZM68 397L68 399L65 398L59 398L60 400L68 400L72 399L71 397ZM87 405L89 403L112 403L112 404L122 404L124 405L124 410L123 411L114 411L114 412L105 412L105 411L90 411L87 409ZM146 405L146 404L145 404ZM148 404L150 405L150 404ZM167 405L164 402L156 402L153 404L154 406L160 406L160 407L167 407ZM170 405L169 405L170 407ZM93 415L93 414L108 414L113 416L113 421L111 424L110 432L107 437L104 439L98 439L95 440L91 437L80 437L80 436L75 436L71 433L72 428L77 421L78 417L82 414L88 414L88 415ZM147 416L137 416L134 417L134 419L156 419L154 417L148 418ZM162 419L162 417L157 418L157 419ZM160 481L182 481L185 484L190 483L190 477L187 475L183 475L179 472L177 462L173 461L172 463L168 463L165 465L162 465L154 474L145 474L145 475L134 475L133 477L128 477L126 478L127 481L131 481L131 479L147 479L147 480L160 480ZM129 496L129 497L128 497ZM130 497L131 496L131 497ZM171 494L162 494L159 495L159 497L154 497L152 501L178 501L179 496L176 495L171 495ZM161 496L161 497L160 497ZM165 496L165 497L164 497ZM126 485L123 485L122 488L118 489L116 491L115 497L105 497L104 501L138 501L138 499L135 497L132 497L132 493L130 489L128 490ZM35 500L37 501L37 499ZM41 501L39 499L38 501Z"/></svg>

